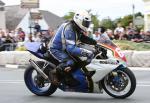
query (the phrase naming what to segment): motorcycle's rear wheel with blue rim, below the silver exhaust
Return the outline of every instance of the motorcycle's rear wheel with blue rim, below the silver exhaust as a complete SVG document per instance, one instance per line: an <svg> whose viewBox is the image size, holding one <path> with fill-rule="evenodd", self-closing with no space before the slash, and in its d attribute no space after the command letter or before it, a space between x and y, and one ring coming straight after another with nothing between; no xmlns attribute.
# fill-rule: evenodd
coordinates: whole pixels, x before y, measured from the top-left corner
<svg viewBox="0 0 150 103"><path fill-rule="evenodd" d="M39 63L38 63L39 64ZM43 64L42 62L40 62L40 65ZM35 74L35 75L33 75ZM35 80L37 80L37 71L34 69L34 67L32 67L31 65L29 65L27 67L27 69L24 72L24 81L25 84L27 86L27 88L34 94L38 95L38 96L49 96L51 94L53 94L56 90L57 87L51 83L47 82L47 87L39 87ZM45 84L44 84L45 85Z"/></svg>

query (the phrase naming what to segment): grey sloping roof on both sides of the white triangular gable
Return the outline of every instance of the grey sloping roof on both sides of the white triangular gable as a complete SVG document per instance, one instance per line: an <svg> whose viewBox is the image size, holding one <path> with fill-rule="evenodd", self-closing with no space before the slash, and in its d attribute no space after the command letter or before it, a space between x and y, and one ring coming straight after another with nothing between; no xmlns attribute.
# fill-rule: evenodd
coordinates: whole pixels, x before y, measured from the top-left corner
<svg viewBox="0 0 150 103"><path fill-rule="evenodd" d="M28 9L23 9L19 5L6 6L6 28L14 30L21 22L23 17L28 13ZM47 22L49 27L57 29L57 27L64 22L64 19L45 10L40 10L43 18Z"/></svg>

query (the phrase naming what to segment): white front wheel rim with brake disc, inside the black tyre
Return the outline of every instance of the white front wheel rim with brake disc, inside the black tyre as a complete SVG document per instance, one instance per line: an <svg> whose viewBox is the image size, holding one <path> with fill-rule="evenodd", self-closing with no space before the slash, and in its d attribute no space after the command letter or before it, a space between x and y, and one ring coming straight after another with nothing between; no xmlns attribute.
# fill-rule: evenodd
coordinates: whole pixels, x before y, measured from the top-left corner
<svg viewBox="0 0 150 103"><path fill-rule="evenodd" d="M129 76L121 70L113 71L110 74L104 79L104 85L108 92L116 96L126 95L131 89Z"/></svg>

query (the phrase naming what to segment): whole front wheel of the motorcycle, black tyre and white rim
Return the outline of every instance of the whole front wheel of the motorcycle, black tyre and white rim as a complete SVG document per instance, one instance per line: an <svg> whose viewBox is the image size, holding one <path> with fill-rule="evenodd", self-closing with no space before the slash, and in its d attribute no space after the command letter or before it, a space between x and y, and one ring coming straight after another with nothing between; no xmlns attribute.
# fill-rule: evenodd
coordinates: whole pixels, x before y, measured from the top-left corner
<svg viewBox="0 0 150 103"><path fill-rule="evenodd" d="M110 96L124 99L135 91L136 78L130 69L118 68L102 80L102 86Z"/></svg>

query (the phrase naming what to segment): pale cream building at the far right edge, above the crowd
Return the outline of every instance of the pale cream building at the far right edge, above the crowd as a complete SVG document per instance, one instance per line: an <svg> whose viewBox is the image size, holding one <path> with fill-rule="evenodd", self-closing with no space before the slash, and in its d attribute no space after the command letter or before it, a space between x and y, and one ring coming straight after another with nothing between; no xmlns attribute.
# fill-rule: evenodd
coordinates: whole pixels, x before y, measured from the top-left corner
<svg viewBox="0 0 150 103"><path fill-rule="evenodd" d="M150 30L150 0L144 1L144 29L145 31Z"/></svg>

